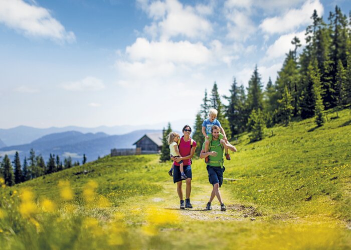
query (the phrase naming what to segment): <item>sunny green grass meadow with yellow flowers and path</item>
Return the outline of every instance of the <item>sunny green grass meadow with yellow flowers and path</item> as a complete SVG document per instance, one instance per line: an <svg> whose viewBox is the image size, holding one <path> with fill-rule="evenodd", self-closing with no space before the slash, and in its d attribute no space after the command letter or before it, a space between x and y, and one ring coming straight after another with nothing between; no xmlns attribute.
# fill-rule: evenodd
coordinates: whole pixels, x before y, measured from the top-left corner
<svg viewBox="0 0 351 250"><path fill-rule="evenodd" d="M179 209L170 162L105 156L0 188L3 249L349 249L351 112L267 129L226 161L228 210L205 211L212 186L193 160L193 209ZM2 181L0 179L0 181ZM185 185L184 185L185 189ZM185 191L185 190L184 190Z"/></svg>

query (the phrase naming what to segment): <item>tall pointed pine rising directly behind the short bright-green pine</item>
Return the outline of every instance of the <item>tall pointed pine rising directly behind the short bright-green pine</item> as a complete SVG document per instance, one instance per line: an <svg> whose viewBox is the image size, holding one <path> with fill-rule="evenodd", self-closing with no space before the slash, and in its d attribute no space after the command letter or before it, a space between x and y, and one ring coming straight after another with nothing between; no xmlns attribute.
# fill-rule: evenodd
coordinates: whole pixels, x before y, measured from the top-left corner
<svg viewBox="0 0 351 250"><path fill-rule="evenodd" d="M248 112L251 113L253 109L263 108L263 94L261 76L258 73L257 65L249 80L249 87L247 88L247 103Z"/></svg>

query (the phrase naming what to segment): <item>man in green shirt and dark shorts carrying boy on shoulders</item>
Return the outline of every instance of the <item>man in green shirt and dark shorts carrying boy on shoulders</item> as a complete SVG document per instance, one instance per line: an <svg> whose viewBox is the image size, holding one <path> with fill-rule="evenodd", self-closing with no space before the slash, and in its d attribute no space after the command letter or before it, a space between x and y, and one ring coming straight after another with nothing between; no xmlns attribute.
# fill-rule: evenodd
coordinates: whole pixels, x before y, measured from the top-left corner
<svg viewBox="0 0 351 250"><path fill-rule="evenodd" d="M207 210L212 210L211 202L217 196L218 201L221 204L221 211L226 210L226 206L222 201L222 196L220 192L220 187L223 183L223 172L224 172L224 159L223 153L225 148L236 152L235 146L226 142L224 139L219 139L220 128L217 125L212 127L212 140L210 143L210 148L208 152L205 152L205 143L203 144L200 158L205 158L209 156L209 162L207 163L207 172L209 173L209 181L213 185L210 200L206 205Z"/></svg>

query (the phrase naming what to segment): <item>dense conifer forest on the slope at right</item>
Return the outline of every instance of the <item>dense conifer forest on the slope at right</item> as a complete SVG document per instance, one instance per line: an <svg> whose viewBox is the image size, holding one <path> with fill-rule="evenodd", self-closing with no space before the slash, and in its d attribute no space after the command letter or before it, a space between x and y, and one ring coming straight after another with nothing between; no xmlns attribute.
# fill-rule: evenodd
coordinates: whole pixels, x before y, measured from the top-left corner
<svg viewBox="0 0 351 250"><path fill-rule="evenodd" d="M294 37L294 49L288 51L273 83L265 89L255 66L248 87L238 85L233 77L229 95L220 96L215 82L196 115L193 138L202 142L202 122L208 110L218 110L218 120L229 138L248 131L251 141L264 136L264 128L276 124L287 126L294 119L315 117L323 125L323 111L341 109L351 102L351 12L347 18L338 6L329 13L328 22L314 10L312 24L305 33L306 45L297 53L301 42ZM221 97L227 100L223 104ZM201 147L197 148L199 153Z"/></svg>

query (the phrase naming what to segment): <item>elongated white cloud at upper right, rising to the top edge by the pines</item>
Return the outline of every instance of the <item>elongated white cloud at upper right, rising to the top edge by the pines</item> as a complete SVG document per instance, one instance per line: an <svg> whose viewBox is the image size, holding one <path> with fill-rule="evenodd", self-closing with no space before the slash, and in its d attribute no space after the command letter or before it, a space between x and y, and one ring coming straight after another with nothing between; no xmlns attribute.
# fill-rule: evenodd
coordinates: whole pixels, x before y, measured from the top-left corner
<svg viewBox="0 0 351 250"><path fill-rule="evenodd" d="M291 32L309 24L314 9L319 16L323 13L323 5L319 0L307 0L299 9L290 9L284 15L265 18L260 28L269 34Z"/></svg>

